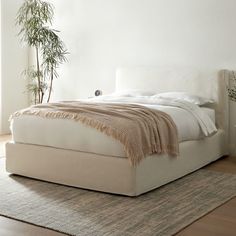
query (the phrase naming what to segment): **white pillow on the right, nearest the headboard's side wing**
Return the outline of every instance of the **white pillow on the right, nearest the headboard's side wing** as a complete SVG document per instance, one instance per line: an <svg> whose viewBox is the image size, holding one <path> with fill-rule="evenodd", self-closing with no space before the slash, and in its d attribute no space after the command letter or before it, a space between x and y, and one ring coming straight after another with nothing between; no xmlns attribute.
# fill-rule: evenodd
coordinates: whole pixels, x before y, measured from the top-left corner
<svg viewBox="0 0 236 236"><path fill-rule="evenodd" d="M196 95L192 95L185 92L167 92L167 93L159 93L154 95L155 98L170 98L170 99L180 99L187 102L191 102L198 106L203 106L209 103L214 103L212 99L204 98Z"/></svg>

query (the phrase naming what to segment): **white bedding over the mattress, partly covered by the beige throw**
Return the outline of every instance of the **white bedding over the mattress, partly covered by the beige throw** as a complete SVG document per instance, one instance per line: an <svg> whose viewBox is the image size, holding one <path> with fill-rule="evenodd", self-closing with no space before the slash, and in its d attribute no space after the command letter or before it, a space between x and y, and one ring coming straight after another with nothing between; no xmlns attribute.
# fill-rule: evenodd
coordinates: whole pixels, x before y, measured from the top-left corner
<svg viewBox="0 0 236 236"><path fill-rule="evenodd" d="M137 103L166 112L177 126L179 142L200 139L216 131L214 110L199 108L179 100L101 96L87 101ZM11 130L13 141L19 143L125 156L123 147L117 140L73 120L23 115L12 120Z"/></svg>

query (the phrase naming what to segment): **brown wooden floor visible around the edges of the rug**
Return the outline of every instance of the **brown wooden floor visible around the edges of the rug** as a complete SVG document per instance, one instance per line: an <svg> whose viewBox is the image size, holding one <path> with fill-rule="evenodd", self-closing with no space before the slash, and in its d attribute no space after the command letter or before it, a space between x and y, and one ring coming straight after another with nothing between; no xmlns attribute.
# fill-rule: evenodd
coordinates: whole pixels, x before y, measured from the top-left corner
<svg viewBox="0 0 236 236"><path fill-rule="evenodd" d="M0 158L10 136L0 136ZM236 174L236 158L225 157L206 169ZM1 200L1 198L0 198ZM0 236L63 236L65 234L0 216ZM136 235L135 235L136 236ZM183 229L176 236L236 236L236 198Z"/></svg>

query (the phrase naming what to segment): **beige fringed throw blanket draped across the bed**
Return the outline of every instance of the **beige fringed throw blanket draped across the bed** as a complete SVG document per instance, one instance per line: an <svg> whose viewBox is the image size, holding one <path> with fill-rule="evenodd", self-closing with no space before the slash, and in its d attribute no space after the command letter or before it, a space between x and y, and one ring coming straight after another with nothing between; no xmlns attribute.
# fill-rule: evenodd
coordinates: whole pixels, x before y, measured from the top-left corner
<svg viewBox="0 0 236 236"><path fill-rule="evenodd" d="M18 111L13 117L36 115L82 122L124 145L132 165L145 156L179 153L177 128L172 118L158 110L135 104L61 102L40 104Z"/></svg>

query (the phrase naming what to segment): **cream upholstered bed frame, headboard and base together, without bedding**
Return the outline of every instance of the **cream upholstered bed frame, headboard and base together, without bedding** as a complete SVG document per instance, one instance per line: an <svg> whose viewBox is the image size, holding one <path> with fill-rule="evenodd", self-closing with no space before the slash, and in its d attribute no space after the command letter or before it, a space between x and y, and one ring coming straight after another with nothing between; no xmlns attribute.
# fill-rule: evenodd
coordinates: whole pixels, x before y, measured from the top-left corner
<svg viewBox="0 0 236 236"><path fill-rule="evenodd" d="M120 68L116 90L188 91L216 101L218 132L180 143L180 156L148 156L133 167L127 158L10 142L6 168L10 173L104 192L137 196L180 178L228 154L229 101L227 70L192 68ZM92 142L92 140L91 140Z"/></svg>

